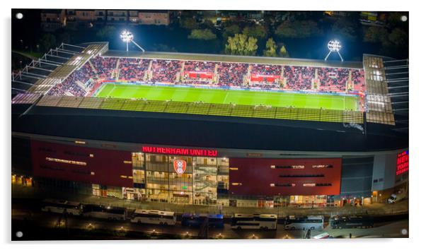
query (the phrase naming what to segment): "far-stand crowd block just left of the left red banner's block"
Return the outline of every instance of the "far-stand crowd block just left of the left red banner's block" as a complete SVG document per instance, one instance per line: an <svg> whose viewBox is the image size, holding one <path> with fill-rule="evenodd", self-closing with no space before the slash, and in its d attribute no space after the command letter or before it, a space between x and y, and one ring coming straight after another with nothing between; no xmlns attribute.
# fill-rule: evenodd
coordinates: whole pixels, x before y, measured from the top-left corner
<svg viewBox="0 0 426 250"><path fill-rule="evenodd" d="M154 59L151 66L151 83L175 83L181 67L182 63L180 61Z"/></svg>

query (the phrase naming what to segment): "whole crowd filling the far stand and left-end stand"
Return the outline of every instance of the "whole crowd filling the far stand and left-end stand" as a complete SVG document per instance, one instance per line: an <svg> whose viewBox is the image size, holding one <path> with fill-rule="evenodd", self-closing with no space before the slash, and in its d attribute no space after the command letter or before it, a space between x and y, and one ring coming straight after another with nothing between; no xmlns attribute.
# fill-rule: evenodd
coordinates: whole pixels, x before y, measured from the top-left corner
<svg viewBox="0 0 426 250"><path fill-rule="evenodd" d="M347 82L351 78L354 91L365 91L364 71L360 69L164 59L118 59L101 56L94 57L90 62L92 65L89 62L84 64L81 69L71 73L64 82L54 86L50 94L86 95L86 93L93 93L91 89L94 88L93 86L98 88L103 80L115 80L116 76L119 80L146 81L153 84L203 83L263 89L281 88L282 82L285 81L287 90L311 90L312 83L316 80L317 89L327 93L345 92ZM249 68L250 65L251 68ZM216 72L215 69L217 69ZM181 73L183 76L178 81ZM145 75L146 78L144 78Z"/></svg>

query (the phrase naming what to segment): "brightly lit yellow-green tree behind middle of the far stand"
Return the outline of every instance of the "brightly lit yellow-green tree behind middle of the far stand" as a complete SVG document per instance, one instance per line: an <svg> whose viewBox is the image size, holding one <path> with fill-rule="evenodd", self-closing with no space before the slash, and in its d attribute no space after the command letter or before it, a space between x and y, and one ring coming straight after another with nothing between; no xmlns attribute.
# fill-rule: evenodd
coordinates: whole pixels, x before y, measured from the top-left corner
<svg viewBox="0 0 426 250"><path fill-rule="evenodd" d="M228 37L228 43L225 45L225 53L254 56L258 50L257 43L258 40L254 37L247 37L247 35L244 34L235 34L234 37Z"/></svg>

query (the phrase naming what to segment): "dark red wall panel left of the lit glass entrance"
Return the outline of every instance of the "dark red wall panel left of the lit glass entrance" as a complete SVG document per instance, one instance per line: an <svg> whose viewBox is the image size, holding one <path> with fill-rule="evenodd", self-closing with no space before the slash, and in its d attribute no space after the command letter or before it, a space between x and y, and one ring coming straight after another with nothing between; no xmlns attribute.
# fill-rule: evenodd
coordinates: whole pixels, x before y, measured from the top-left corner
<svg viewBox="0 0 426 250"><path fill-rule="evenodd" d="M132 164L123 162L132 161L132 153L126 151L31 141L31 154L36 177L133 187L133 179L120 177L132 177ZM90 154L93 157L89 157ZM86 166L52 162L46 157L86 162ZM91 175L91 172L95 174Z"/></svg>

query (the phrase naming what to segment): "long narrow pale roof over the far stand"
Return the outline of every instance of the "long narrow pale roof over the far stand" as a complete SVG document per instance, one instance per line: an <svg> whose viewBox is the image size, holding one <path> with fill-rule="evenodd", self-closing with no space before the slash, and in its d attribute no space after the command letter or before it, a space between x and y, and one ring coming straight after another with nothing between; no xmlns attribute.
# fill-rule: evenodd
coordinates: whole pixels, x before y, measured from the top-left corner
<svg viewBox="0 0 426 250"><path fill-rule="evenodd" d="M197 54L197 53L175 53L175 52L123 52L108 50L103 56L131 57L149 59L171 59L171 60L193 60L193 61L219 61L240 62L249 64L285 64L294 66L327 66L337 68L362 69L362 61L324 61L310 59L294 59L282 57L265 56L234 56L226 54Z"/></svg>

